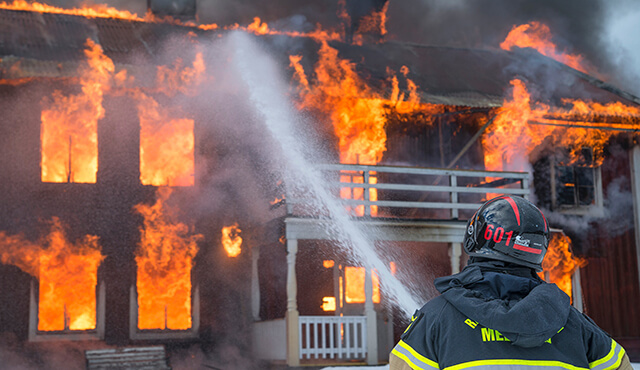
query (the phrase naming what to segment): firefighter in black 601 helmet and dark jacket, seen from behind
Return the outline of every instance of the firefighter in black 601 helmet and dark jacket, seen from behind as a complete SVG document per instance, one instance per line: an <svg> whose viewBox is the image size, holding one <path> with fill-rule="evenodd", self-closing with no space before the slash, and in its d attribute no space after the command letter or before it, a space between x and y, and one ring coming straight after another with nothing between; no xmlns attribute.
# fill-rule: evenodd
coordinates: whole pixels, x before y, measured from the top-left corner
<svg viewBox="0 0 640 370"><path fill-rule="evenodd" d="M536 272L549 243L521 197L484 203L467 223L462 272L437 278L390 354L390 370L629 369L624 348Z"/></svg>

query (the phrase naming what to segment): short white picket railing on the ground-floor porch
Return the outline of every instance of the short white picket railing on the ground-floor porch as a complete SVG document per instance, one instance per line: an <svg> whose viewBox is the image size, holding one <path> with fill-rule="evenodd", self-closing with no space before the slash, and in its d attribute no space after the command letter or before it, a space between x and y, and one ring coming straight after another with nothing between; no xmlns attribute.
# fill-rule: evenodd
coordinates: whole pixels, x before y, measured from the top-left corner
<svg viewBox="0 0 640 370"><path fill-rule="evenodd" d="M367 353L365 316L300 316L300 359L361 359Z"/></svg>

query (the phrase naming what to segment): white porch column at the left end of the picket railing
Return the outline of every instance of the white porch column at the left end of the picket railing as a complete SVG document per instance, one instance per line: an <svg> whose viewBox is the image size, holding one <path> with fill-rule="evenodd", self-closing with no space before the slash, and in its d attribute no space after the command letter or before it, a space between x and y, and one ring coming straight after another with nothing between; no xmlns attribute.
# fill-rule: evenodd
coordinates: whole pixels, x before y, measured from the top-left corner
<svg viewBox="0 0 640 370"><path fill-rule="evenodd" d="M300 366L300 351L298 347L300 330L298 329L298 282L296 281L296 254L298 240L287 238L287 365Z"/></svg>

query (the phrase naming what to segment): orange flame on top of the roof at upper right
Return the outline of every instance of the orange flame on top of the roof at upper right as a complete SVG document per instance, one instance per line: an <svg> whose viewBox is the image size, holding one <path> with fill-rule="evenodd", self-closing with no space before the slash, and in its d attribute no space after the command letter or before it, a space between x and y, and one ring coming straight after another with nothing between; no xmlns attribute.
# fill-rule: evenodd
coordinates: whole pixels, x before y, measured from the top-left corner
<svg viewBox="0 0 640 370"><path fill-rule="evenodd" d="M540 22L530 22L513 26L507 38L500 44L500 47L504 50L513 50L514 47L533 48L542 55L546 55L573 69L587 73L581 55L559 52L556 44L551 41L551 38L551 31L547 25Z"/></svg>

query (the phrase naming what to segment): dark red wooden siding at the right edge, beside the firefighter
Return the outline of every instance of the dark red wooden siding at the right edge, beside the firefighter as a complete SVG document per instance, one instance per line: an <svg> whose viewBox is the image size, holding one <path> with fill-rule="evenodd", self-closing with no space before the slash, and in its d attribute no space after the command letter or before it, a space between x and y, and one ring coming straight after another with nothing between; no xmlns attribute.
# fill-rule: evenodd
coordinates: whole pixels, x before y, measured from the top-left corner
<svg viewBox="0 0 640 370"><path fill-rule="evenodd" d="M581 269L583 300L589 317L638 361L640 275L630 199L629 156L617 145L611 146L609 152L602 166L602 180L605 204L608 202L612 212L589 225L589 236L580 246L579 254L587 258L587 265ZM629 199L625 201L626 197Z"/></svg>

